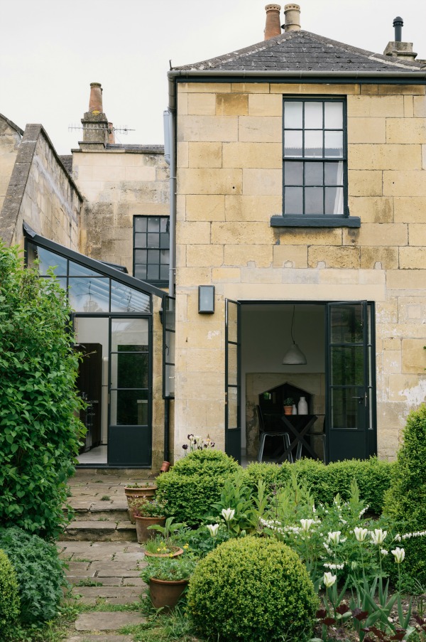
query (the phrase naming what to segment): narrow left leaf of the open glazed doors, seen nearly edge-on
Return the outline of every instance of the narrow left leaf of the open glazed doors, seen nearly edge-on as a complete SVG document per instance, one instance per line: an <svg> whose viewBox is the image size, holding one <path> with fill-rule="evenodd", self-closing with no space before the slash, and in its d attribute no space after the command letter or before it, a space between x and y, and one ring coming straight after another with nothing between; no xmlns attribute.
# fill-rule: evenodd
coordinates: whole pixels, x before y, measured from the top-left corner
<svg viewBox="0 0 426 642"><path fill-rule="evenodd" d="M241 332L237 301L225 301L225 452L241 461Z"/></svg>

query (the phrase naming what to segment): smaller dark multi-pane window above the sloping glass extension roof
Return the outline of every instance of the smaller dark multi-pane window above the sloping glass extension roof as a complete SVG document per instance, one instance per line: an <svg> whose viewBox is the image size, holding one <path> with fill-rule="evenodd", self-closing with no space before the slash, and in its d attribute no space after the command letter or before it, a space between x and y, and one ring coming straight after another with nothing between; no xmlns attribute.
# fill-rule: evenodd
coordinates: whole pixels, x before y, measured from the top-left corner
<svg viewBox="0 0 426 642"><path fill-rule="evenodd" d="M170 218L133 216L133 276L158 287L168 285Z"/></svg>

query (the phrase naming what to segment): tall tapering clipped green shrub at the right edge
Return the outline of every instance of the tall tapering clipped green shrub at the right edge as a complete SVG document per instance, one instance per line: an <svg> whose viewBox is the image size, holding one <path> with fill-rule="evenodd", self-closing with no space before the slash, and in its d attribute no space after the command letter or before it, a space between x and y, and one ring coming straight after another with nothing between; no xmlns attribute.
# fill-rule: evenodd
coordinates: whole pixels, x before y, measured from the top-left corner
<svg viewBox="0 0 426 642"><path fill-rule="evenodd" d="M398 450L391 488L386 493L383 512L400 533L426 531L426 405L410 412ZM403 538L404 574L426 584L426 536Z"/></svg>

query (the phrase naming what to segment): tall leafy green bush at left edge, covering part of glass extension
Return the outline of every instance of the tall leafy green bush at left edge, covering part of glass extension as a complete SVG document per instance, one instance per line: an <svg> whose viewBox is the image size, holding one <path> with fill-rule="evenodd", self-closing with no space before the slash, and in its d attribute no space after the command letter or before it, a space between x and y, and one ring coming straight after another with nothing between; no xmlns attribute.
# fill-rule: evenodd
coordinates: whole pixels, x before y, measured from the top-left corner
<svg viewBox="0 0 426 642"><path fill-rule="evenodd" d="M0 525L55 537L82 424L70 309L0 242Z"/></svg>

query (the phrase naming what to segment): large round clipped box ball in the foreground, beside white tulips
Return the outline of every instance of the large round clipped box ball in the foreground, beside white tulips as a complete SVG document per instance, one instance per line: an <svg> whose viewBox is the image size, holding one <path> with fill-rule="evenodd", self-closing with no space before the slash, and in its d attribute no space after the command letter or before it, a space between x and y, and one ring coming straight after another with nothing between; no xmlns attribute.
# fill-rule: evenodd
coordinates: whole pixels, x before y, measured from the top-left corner
<svg viewBox="0 0 426 642"><path fill-rule="evenodd" d="M317 608L297 554L260 537L229 540L200 560L187 600L197 630L214 640L301 642Z"/></svg>

